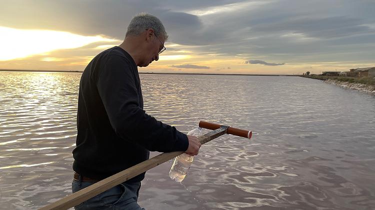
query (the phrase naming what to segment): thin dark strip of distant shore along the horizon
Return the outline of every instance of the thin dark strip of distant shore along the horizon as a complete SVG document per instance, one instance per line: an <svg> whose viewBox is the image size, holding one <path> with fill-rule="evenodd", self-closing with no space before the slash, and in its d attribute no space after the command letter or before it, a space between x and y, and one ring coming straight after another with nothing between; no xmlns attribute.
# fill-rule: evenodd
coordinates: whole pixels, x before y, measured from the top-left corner
<svg viewBox="0 0 375 210"><path fill-rule="evenodd" d="M0 69L0 71L10 72L67 72L67 73L82 73L83 71L68 71L68 70L28 70L28 69ZM181 74L181 75L226 75L226 76L299 76L293 74L215 74L215 73L161 73L161 72L138 72L139 74Z"/></svg>

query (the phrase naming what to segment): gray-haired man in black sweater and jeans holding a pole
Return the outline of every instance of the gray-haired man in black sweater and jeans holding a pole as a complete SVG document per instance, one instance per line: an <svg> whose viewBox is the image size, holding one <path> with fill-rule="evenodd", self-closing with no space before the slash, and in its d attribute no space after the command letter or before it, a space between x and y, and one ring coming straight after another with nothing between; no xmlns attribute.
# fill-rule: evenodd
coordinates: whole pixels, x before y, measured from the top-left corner
<svg viewBox="0 0 375 210"><path fill-rule="evenodd" d="M124 41L96 55L84 69L78 95L72 192L149 158L149 151L197 155L200 143L143 111L137 66L158 60L167 39L155 16L133 17ZM140 174L75 209L140 210Z"/></svg>

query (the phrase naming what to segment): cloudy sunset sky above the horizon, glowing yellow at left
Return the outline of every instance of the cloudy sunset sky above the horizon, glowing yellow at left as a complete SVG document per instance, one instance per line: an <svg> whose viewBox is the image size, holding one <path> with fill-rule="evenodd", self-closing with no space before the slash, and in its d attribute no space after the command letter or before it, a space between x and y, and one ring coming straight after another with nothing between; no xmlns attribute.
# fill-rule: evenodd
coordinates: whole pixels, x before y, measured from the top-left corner
<svg viewBox="0 0 375 210"><path fill-rule="evenodd" d="M169 35L139 72L301 74L375 66L375 0L1 0L0 69L82 71L132 16Z"/></svg>

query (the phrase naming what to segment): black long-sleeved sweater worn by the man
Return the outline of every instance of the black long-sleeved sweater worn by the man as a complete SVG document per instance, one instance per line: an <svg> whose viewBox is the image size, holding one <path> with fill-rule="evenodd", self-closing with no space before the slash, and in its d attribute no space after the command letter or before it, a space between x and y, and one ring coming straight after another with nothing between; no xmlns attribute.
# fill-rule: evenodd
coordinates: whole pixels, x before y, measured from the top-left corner
<svg viewBox="0 0 375 210"><path fill-rule="evenodd" d="M104 179L149 157L149 151L186 151L187 136L143 111L137 66L120 47L98 55L79 83L73 170ZM129 180L138 182L144 173Z"/></svg>

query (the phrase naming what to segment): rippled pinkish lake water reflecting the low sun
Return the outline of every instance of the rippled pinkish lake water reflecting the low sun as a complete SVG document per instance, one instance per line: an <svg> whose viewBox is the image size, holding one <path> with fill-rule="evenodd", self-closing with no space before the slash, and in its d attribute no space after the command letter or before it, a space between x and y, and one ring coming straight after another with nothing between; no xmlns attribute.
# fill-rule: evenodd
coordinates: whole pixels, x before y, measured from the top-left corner
<svg viewBox="0 0 375 210"><path fill-rule="evenodd" d="M71 194L80 75L0 72L0 209ZM200 120L258 133L203 145L182 185L171 160L148 171L146 210L375 209L374 95L301 77L140 79L145 111L184 133Z"/></svg>

